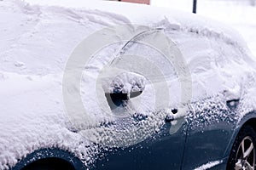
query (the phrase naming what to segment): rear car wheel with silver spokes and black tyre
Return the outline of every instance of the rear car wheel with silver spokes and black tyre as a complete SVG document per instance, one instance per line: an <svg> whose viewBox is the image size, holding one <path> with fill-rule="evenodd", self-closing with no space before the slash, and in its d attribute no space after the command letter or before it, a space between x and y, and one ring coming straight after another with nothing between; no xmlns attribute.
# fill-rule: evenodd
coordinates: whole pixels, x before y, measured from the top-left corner
<svg viewBox="0 0 256 170"><path fill-rule="evenodd" d="M233 144L227 169L254 170L256 134L253 127L242 127Z"/></svg>

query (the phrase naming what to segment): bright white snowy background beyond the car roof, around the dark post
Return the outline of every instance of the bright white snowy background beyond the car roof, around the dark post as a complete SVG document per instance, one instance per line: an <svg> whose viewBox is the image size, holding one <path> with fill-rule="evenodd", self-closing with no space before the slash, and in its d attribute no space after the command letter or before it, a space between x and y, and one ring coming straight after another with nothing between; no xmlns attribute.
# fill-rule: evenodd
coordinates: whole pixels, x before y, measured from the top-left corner
<svg viewBox="0 0 256 170"><path fill-rule="evenodd" d="M256 56L256 6L253 0L203 0L197 1L197 15L207 16L228 24L246 40L248 47ZM184 12L192 12L193 1L183 0L151 0L151 5L176 8Z"/></svg>

